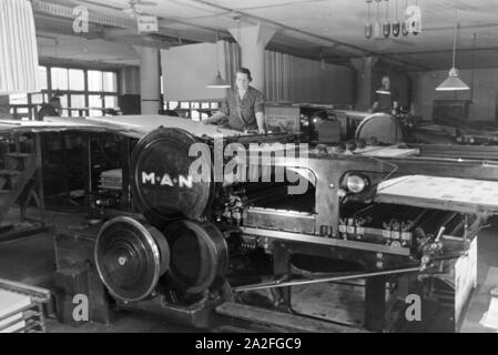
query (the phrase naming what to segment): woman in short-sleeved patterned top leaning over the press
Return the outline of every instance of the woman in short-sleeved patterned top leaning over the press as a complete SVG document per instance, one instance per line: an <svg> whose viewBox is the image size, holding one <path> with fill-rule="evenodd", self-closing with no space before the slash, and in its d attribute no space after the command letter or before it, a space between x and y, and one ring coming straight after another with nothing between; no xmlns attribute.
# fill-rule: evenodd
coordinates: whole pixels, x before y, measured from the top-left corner
<svg viewBox="0 0 498 355"><path fill-rule="evenodd" d="M228 90L220 111L202 122L213 124L226 118L233 130L266 133L263 93L251 87L251 71L247 68L238 68L235 88Z"/></svg>

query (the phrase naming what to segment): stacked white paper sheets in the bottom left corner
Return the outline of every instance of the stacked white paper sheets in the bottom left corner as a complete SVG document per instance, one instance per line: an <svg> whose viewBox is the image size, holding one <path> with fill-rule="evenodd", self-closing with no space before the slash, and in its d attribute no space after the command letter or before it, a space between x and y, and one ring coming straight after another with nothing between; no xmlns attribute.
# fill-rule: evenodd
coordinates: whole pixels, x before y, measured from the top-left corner
<svg viewBox="0 0 498 355"><path fill-rule="evenodd" d="M13 333L24 327L26 322L22 320L22 312L20 310L29 306L31 298L26 295L13 293L10 291L0 290L0 333ZM19 313L14 313L19 311ZM8 314L12 314L7 317ZM10 325L8 328L3 328L7 324L18 321Z"/></svg>

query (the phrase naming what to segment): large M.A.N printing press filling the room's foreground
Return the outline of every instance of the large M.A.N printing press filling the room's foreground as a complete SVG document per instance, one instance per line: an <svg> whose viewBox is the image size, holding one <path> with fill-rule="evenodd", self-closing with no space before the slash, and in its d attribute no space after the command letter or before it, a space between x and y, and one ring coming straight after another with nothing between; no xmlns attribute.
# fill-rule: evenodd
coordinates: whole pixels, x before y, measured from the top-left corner
<svg viewBox="0 0 498 355"><path fill-rule="evenodd" d="M108 324L113 311L126 310L202 328L404 332L415 294L429 329L461 325L476 286L478 232L498 212L498 165L487 158L494 146L295 151L283 144L303 143L298 135L246 135L179 118L35 124L16 131L111 134L130 152L89 191L89 215L100 223L55 235L58 313L67 323L78 325L73 296L87 294L90 321ZM203 163L232 164L254 181L193 181L195 143L211 150ZM228 144L243 151L254 143L258 156L274 154L270 164L216 156ZM287 179L275 181L282 172ZM303 193L288 193L302 182ZM360 324L304 314L293 303L296 287L356 281ZM426 303L439 308L427 314Z"/></svg>

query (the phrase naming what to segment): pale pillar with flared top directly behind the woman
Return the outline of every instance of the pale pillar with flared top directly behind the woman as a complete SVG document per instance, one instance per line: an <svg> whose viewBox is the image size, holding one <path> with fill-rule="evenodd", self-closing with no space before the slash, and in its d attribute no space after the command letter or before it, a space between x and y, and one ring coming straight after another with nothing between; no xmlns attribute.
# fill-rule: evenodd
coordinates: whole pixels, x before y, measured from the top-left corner
<svg viewBox="0 0 498 355"><path fill-rule="evenodd" d="M241 47L242 67L251 70L252 87L264 92L265 48L275 34L275 29L261 26L228 29Z"/></svg>

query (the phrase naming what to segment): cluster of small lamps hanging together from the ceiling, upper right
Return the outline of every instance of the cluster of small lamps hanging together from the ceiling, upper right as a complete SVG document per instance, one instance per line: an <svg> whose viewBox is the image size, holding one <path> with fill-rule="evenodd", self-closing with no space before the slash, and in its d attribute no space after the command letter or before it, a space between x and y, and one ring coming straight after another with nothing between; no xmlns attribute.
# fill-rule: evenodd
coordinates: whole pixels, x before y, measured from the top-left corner
<svg viewBox="0 0 498 355"><path fill-rule="evenodd" d="M383 0L375 0L376 2L376 18L375 22L372 22L372 2L374 0L366 0L368 7L367 22L365 24L365 37L370 38L388 38L389 36L398 37L411 34L419 34L421 31L421 12L417 4L408 6L408 0L405 0L405 9L403 11L403 20L398 18L398 0L396 0L396 10L394 19L389 19L389 0L384 0L385 6L385 18L384 22L380 20L379 3Z"/></svg>

